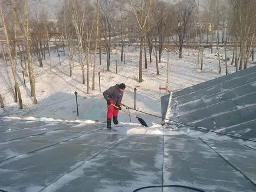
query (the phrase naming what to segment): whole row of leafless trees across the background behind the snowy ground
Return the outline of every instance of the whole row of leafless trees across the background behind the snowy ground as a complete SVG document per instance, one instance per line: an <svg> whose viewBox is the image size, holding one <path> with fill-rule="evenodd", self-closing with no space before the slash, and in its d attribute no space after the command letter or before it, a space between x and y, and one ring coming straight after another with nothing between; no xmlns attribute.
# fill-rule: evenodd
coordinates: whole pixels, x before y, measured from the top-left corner
<svg viewBox="0 0 256 192"><path fill-rule="evenodd" d="M4 0L0 4L5 39L3 57L8 55L12 65L15 83L13 92L14 95L17 95L15 90L18 92L20 108L22 108L22 99L17 80L18 58L24 74L29 76L31 97L36 104L32 57L35 55L40 67L43 66L42 59L45 58L45 54L48 52L50 56L50 42L53 41L54 33L59 34L54 43L57 50L58 45L68 48L70 77L74 54L78 54L81 83L87 85L87 94L90 92L90 78L92 78L91 87L93 90L95 88L97 52L100 52L100 65L101 51L106 52L106 69L110 71L113 43L122 46L120 58L123 61L124 44L129 34L139 41L139 82L143 81L143 50L145 68L147 68L147 48L149 48L149 62L152 62L152 55L155 57L158 75L158 64L161 62L163 49L169 48L170 42L178 47L179 58L182 58L182 48L185 45L189 46L191 39L198 42L198 62L202 70L205 35L211 48L216 43L219 49L219 39L221 39L226 50L227 41L232 39L234 46L232 64L235 64L237 69L247 67L255 41L256 2L254 0L207 0L205 6L201 6L199 0L181 0L175 3L161 0L63 0L59 5L56 11L58 22L54 24L49 21L46 9L28 6L27 0ZM219 31L222 31L221 38ZM92 63L90 55L94 55L92 74L90 74ZM225 60L226 73L228 73L227 59ZM219 73L221 73L220 61Z"/></svg>

